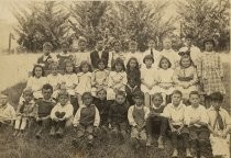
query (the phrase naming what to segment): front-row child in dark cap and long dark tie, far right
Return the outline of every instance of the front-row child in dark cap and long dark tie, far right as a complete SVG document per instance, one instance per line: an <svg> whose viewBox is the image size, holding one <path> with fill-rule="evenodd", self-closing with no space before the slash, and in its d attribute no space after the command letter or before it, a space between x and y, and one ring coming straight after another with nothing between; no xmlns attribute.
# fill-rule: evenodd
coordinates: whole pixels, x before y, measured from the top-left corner
<svg viewBox="0 0 231 158"><path fill-rule="evenodd" d="M209 98L211 106L207 112L212 154L216 158L230 158L231 119L229 113L221 108L223 95L220 92L213 92Z"/></svg>

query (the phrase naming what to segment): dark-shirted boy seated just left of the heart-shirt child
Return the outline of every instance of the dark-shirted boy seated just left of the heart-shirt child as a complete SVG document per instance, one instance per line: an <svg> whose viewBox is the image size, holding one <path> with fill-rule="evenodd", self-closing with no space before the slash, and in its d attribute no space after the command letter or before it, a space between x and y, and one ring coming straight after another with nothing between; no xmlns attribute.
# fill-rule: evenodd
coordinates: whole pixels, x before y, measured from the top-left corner
<svg viewBox="0 0 231 158"><path fill-rule="evenodd" d="M51 124L51 111L55 106L56 102L52 99L53 87L51 84L44 84L42 89L43 99L36 101L34 109L35 120L38 125L36 138L41 138L42 132L50 127Z"/></svg>

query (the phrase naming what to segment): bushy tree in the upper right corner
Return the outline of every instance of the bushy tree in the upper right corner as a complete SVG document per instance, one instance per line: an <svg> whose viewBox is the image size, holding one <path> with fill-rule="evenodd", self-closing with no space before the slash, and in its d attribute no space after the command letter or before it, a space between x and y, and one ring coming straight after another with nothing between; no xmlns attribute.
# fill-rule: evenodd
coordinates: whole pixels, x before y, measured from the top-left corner
<svg viewBox="0 0 231 158"><path fill-rule="evenodd" d="M220 49L229 45L229 0L185 0L177 8L183 36L193 34L198 46L206 37L217 40Z"/></svg>

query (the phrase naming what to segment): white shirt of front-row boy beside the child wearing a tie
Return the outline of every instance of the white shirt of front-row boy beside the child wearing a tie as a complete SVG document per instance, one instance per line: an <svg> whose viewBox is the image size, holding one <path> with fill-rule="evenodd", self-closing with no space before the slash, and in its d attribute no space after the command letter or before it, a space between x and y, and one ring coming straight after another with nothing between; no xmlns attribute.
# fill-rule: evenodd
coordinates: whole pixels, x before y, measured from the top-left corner
<svg viewBox="0 0 231 158"><path fill-rule="evenodd" d="M185 124L189 125L191 120L200 119L200 122L208 124L209 117L207 114L207 110L204 105L200 105L198 108L194 108L191 105L186 106L185 109ZM200 127L199 124L194 124L195 126Z"/></svg>

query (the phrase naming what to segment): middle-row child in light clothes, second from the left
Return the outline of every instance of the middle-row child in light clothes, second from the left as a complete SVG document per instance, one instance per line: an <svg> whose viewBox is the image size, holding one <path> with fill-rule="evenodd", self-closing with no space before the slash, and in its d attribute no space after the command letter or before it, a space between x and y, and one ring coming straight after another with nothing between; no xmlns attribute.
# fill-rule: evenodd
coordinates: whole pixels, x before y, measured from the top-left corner
<svg viewBox="0 0 231 158"><path fill-rule="evenodd" d="M53 98L57 98L57 93L61 90L61 83L63 76L58 74L58 66L57 64L53 63L51 65L51 74L46 77L47 83L50 83L53 87Z"/></svg>

